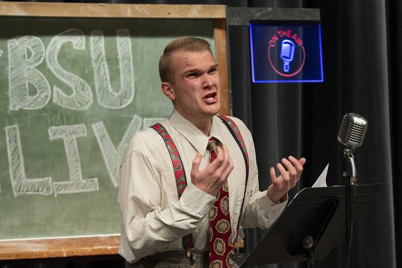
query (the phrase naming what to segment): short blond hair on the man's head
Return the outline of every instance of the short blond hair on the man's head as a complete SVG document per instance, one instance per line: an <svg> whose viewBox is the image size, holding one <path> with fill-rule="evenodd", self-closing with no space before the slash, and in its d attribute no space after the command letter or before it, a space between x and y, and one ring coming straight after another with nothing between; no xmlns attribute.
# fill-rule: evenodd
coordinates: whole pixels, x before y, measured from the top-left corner
<svg viewBox="0 0 402 268"><path fill-rule="evenodd" d="M207 40L197 37L180 37L170 42L164 49L164 54L159 59L159 76L162 82L174 84L174 70L171 68L173 53L176 51L205 51L211 52Z"/></svg>

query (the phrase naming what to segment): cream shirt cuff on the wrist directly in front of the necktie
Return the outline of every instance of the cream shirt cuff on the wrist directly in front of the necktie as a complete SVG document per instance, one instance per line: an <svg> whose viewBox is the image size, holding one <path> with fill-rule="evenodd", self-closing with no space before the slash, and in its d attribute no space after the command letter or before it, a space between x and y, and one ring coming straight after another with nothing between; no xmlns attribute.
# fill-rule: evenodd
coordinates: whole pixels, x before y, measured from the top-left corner
<svg viewBox="0 0 402 268"><path fill-rule="evenodd" d="M202 216L209 213L209 207L211 207L216 200L216 197L205 193L191 183L187 185L180 198L183 205L190 207L190 209L193 209L197 214L202 214Z"/></svg>

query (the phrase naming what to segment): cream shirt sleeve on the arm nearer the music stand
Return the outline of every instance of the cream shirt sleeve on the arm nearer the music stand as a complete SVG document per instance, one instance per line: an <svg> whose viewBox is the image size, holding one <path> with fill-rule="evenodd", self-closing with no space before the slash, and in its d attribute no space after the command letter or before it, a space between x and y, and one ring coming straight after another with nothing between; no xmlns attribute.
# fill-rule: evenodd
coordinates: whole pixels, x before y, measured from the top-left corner
<svg viewBox="0 0 402 268"><path fill-rule="evenodd" d="M267 229L279 217L286 207L286 201L278 204L272 202L267 196L267 190L260 191L258 181L257 159L255 156L255 147L250 130L243 122L238 120L238 127L245 140L245 146L248 150L250 171L248 174L248 185L246 188L245 204L243 209L243 228L262 228ZM236 122L237 123L237 122ZM268 187L268 185L267 185ZM265 189L267 189L267 187Z"/></svg>

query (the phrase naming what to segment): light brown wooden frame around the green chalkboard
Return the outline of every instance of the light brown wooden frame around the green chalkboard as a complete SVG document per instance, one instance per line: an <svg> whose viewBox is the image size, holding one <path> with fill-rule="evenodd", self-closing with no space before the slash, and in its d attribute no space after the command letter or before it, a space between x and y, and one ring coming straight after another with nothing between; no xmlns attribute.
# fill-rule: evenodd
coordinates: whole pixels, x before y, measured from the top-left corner
<svg viewBox="0 0 402 268"><path fill-rule="evenodd" d="M214 21L214 47L221 75L221 110L229 115L226 6L1 2L1 17L191 18ZM120 236L0 240L0 260L116 255Z"/></svg>

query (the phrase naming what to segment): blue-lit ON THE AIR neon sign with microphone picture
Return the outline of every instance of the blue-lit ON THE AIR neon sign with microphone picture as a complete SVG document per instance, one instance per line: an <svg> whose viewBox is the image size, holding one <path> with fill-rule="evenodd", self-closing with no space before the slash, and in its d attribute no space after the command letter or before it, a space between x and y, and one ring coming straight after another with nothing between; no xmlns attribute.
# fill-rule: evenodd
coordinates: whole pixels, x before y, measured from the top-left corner
<svg viewBox="0 0 402 268"><path fill-rule="evenodd" d="M250 24L253 83L323 82L321 28Z"/></svg>

